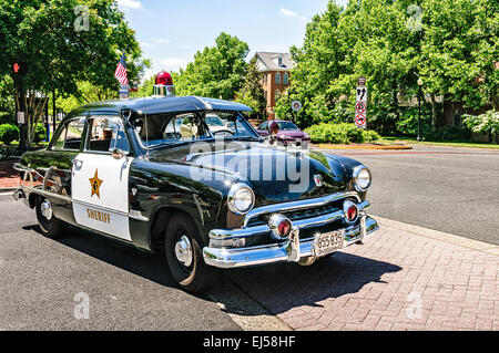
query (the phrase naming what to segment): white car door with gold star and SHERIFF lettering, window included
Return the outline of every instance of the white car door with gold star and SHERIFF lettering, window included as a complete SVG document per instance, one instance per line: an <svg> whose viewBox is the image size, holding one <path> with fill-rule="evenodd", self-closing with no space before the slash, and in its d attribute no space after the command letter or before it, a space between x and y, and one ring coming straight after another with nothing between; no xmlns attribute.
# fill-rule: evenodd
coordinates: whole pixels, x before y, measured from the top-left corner
<svg viewBox="0 0 499 353"><path fill-rule="evenodd" d="M129 173L133 160L122 120L89 117L83 152L73 162L72 199L78 225L131 241Z"/></svg>

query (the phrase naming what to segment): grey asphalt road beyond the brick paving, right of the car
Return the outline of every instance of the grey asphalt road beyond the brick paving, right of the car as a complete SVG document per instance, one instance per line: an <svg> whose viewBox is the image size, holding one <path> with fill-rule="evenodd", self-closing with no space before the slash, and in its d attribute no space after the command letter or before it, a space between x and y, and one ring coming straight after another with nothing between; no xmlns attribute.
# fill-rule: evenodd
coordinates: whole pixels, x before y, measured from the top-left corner
<svg viewBox="0 0 499 353"><path fill-rule="evenodd" d="M371 214L499 245L499 150L324 150L371 169Z"/></svg>

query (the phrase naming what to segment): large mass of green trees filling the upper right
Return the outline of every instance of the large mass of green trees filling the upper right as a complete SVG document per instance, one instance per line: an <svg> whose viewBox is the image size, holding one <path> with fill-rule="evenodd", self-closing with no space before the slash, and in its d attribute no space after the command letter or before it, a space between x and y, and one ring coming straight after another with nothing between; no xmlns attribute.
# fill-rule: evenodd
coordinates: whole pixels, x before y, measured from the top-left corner
<svg viewBox="0 0 499 353"><path fill-rule="evenodd" d="M419 77L429 96L498 106L499 2L422 0L421 11L414 3L350 0L342 8L329 1L312 19L303 45L291 49L296 66L288 101L303 103L296 123L353 122L360 75L369 89L368 126L383 134L397 133L396 122L405 120L400 97L417 96ZM284 114L287 104L277 103ZM427 115L436 125L431 104Z"/></svg>

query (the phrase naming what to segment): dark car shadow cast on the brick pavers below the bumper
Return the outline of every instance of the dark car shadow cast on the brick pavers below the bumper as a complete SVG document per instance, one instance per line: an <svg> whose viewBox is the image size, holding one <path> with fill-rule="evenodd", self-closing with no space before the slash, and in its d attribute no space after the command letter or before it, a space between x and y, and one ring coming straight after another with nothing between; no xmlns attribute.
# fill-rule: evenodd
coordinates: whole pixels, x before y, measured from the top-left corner
<svg viewBox="0 0 499 353"><path fill-rule="evenodd" d="M322 301L358 292L381 276L401 268L346 252L318 260L310 267L282 263L227 270L224 273L245 293L274 314L293 308L323 307Z"/></svg>

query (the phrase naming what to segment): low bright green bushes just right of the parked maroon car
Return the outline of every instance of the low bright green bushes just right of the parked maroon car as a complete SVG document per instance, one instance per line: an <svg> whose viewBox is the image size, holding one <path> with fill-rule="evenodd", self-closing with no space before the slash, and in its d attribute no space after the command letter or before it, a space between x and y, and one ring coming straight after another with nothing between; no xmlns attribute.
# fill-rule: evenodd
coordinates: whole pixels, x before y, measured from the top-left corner
<svg viewBox="0 0 499 353"><path fill-rule="evenodd" d="M348 123L320 123L312 125L305 132L310 135L314 143L373 143L380 138L374 131L365 131L358 128L355 124Z"/></svg>

